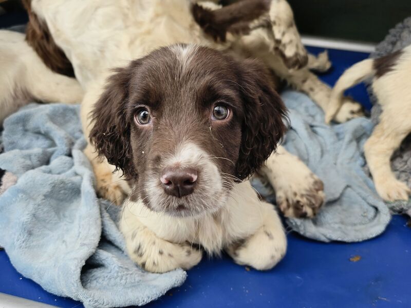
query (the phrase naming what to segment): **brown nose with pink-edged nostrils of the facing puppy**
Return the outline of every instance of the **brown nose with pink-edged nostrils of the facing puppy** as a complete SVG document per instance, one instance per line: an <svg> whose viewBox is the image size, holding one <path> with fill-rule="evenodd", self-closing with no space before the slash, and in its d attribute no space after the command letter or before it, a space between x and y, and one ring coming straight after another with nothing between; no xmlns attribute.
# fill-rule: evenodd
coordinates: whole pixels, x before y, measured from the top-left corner
<svg viewBox="0 0 411 308"><path fill-rule="evenodd" d="M166 167L161 172L160 181L166 194L181 198L194 191L197 171L192 168Z"/></svg>

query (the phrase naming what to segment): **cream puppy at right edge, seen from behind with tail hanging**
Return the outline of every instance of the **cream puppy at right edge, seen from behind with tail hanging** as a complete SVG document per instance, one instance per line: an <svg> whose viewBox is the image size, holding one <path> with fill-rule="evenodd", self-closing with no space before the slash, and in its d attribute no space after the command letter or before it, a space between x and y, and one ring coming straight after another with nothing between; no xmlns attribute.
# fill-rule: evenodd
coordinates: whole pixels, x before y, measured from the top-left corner
<svg viewBox="0 0 411 308"><path fill-rule="evenodd" d="M365 158L378 194L385 201L408 200L410 187L396 179L390 158L411 132L411 46L378 59L367 59L345 71L335 84L326 111L329 123L346 89L373 78L372 91L382 107L380 123L364 145Z"/></svg>

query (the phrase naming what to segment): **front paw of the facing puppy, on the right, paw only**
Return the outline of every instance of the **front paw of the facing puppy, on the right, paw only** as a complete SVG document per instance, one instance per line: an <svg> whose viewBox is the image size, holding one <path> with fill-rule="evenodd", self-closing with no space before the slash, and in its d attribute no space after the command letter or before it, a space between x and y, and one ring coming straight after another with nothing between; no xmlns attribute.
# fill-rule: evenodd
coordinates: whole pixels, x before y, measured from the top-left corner
<svg viewBox="0 0 411 308"><path fill-rule="evenodd" d="M250 238L232 244L227 253L239 265L250 265L260 271L271 269L287 251L287 239L282 232L273 232L265 225Z"/></svg>

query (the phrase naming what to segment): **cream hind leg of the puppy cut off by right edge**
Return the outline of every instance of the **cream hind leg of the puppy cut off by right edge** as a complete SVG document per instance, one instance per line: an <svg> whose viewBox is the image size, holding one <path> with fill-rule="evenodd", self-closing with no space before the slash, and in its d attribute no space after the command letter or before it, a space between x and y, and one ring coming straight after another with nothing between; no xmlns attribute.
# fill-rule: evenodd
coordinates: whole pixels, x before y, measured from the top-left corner
<svg viewBox="0 0 411 308"><path fill-rule="evenodd" d="M393 114L384 110L380 120L364 145L368 167L381 198L386 201L408 200L411 189L396 179L390 158L411 132L409 113L400 110Z"/></svg>

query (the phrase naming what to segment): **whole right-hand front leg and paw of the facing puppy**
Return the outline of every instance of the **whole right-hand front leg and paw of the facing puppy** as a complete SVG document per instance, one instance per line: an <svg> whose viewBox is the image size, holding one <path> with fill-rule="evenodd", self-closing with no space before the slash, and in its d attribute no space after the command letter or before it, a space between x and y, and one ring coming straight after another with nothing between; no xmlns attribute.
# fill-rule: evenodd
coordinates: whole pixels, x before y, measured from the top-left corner
<svg viewBox="0 0 411 308"><path fill-rule="evenodd" d="M249 238L226 248L237 264L264 271L271 269L286 254L287 238L283 224L272 204L260 202L261 227Z"/></svg>

